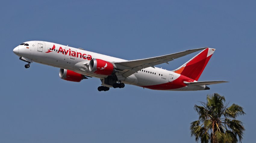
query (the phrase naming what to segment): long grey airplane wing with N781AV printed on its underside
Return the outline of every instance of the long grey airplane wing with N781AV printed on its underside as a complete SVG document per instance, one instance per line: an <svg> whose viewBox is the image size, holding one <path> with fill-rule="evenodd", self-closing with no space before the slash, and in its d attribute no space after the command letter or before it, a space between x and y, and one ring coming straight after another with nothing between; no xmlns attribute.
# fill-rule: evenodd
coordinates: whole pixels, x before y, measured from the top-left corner
<svg viewBox="0 0 256 143"><path fill-rule="evenodd" d="M129 77L130 75L138 72L141 69L145 69L148 67L153 67L155 65L159 65L161 63L167 63L168 62L177 59L179 57L186 56L188 54L194 53L196 51L200 51L205 48L198 48L198 49L192 49L192 50L186 50L174 54L168 54L168 55L163 55L163 56L158 56L158 57L151 57L151 58L146 58L146 59L140 59L140 60L130 60L130 61L122 61L122 62L114 62L114 64L117 67L117 70L120 70L120 74L124 77Z"/></svg>

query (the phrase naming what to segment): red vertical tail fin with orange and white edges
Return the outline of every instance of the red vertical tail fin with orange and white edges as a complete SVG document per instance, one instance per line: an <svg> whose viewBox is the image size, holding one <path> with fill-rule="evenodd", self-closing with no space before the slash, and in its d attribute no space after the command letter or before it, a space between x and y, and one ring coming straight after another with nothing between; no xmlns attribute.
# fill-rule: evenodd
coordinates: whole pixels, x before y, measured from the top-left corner
<svg viewBox="0 0 256 143"><path fill-rule="evenodd" d="M197 81L214 51L215 49L213 48L206 48L184 65L176 70L173 70L172 72L176 72Z"/></svg>

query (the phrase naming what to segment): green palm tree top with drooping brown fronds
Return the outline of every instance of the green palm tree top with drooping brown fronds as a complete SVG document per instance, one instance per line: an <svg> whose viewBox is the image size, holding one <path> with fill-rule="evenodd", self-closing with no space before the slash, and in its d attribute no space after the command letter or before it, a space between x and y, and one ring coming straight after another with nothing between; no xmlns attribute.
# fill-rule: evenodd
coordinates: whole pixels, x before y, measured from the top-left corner
<svg viewBox="0 0 256 143"><path fill-rule="evenodd" d="M207 96L207 103L195 105L199 118L190 126L191 136L202 143L236 143L242 142L245 128L242 121L236 120L244 115L243 108L237 104L227 107L224 96L217 93Z"/></svg>

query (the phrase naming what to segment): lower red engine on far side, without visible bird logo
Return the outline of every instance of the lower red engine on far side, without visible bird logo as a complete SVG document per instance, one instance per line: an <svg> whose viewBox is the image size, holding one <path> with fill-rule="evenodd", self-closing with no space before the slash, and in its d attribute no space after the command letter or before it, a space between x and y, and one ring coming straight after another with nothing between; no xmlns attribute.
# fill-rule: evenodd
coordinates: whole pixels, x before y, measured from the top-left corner
<svg viewBox="0 0 256 143"><path fill-rule="evenodd" d="M67 69L60 69L60 78L67 80L67 81L73 81L73 82L80 82L82 79L85 79L85 76Z"/></svg>

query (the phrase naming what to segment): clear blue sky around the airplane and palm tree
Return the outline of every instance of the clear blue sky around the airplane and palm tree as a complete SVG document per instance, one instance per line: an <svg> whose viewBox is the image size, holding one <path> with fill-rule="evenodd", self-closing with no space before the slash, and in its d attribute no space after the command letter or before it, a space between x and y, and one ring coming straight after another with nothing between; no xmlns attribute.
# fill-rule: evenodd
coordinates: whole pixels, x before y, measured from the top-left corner
<svg viewBox="0 0 256 143"><path fill-rule="evenodd" d="M193 107L213 93L244 107L243 142L253 142L255 9L255 1L2 1L0 142L195 142ZM12 50L31 40L126 60L208 46L216 52L199 81L230 83L194 92L130 85L98 92L96 78L73 83L58 68L25 69ZM176 69L195 54L158 67Z"/></svg>

